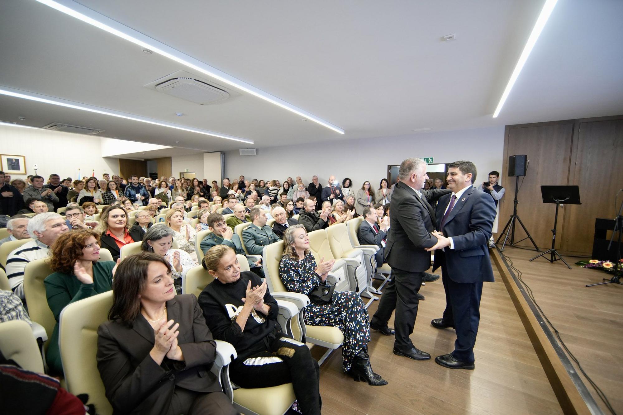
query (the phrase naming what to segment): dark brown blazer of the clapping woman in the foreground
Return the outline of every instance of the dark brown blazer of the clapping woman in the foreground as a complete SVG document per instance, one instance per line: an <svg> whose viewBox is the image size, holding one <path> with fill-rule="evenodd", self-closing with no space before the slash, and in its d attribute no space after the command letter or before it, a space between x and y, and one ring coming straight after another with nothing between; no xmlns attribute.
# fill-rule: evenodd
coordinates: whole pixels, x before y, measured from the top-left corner
<svg viewBox="0 0 623 415"><path fill-rule="evenodd" d="M165 356L161 365L156 364L150 356L154 330L141 314L133 327L109 321L97 330L97 368L116 414L166 414L175 388L222 391L210 371L216 341L197 298L194 294L176 295L166 302L166 310L169 320L179 323L178 345L184 361Z"/></svg>

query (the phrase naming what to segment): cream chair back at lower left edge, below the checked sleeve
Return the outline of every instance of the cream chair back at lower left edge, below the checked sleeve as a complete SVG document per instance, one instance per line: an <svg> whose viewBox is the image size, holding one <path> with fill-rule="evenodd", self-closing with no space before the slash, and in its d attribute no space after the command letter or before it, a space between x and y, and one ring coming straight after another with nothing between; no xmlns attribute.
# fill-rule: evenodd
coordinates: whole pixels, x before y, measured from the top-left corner
<svg viewBox="0 0 623 415"><path fill-rule="evenodd" d="M0 323L0 351L14 360L22 369L44 373L41 351L32 334L31 326L24 320Z"/></svg>

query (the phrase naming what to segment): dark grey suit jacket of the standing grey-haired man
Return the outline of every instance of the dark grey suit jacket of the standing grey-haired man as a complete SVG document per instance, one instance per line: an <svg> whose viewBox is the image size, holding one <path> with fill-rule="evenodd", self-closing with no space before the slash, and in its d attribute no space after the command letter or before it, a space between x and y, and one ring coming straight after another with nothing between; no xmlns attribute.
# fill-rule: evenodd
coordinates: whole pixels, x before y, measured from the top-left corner
<svg viewBox="0 0 623 415"><path fill-rule="evenodd" d="M385 262L403 271L424 272L430 267L430 248L437 238L434 230L435 212L430 202L439 199L449 190L421 190L423 201L416 191L406 184L396 184L391 199L389 234L385 247Z"/></svg>

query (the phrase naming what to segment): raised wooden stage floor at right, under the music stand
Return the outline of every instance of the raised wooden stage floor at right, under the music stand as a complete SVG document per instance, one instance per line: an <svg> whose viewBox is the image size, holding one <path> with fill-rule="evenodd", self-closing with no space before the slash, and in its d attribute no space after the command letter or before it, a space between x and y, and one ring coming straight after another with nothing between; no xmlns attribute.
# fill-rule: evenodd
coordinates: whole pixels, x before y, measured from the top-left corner
<svg viewBox="0 0 623 415"><path fill-rule="evenodd" d="M542 257L530 262L536 255L533 250L507 247L503 253L523 272L536 302L584 371L604 391L616 413L623 413L623 286L585 287L610 275L574 265L579 258L565 257L572 267L569 270L561 261L551 264ZM609 413L595 389L581 377L602 411Z"/></svg>

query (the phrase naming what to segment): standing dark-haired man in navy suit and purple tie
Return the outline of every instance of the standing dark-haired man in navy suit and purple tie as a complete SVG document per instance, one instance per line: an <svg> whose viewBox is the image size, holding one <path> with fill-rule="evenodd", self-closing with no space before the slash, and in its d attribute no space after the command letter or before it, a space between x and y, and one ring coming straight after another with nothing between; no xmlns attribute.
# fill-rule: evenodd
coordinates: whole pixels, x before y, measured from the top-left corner
<svg viewBox="0 0 623 415"><path fill-rule="evenodd" d="M433 327L454 327L454 351L437 356L435 362L450 369L473 369L473 346L480 321L482 283L493 282L487 241L491 237L495 203L488 194L474 189L476 166L470 161L448 165L448 194L437 204L438 241L433 270L441 267L445 289L444 317ZM392 201L393 203L393 201ZM393 206L392 206L393 207Z"/></svg>

